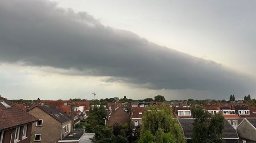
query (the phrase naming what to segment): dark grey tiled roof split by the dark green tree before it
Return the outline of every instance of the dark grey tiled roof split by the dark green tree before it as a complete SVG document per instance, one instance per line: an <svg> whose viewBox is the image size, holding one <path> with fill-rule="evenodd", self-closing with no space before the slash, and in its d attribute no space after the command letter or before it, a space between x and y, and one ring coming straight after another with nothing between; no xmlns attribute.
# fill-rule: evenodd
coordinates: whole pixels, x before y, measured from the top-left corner
<svg viewBox="0 0 256 143"><path fill-rule="evenodd" d="M181 125L184 136L186 138L192 138L193 134L193 122L194 119L184 119L179 118L179 124ZM227 120L224 120L224 130L222 133L222 138L239 138L237 135L237 131L229 124Z"/></svg>

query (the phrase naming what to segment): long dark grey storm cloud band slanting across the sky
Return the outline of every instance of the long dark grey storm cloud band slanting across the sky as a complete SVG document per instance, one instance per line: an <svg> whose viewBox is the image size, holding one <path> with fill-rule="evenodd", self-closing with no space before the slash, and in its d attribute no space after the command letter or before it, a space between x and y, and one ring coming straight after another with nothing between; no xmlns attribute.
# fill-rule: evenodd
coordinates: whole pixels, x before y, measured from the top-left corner
<svg viewBox="0 0 256 143"><path fill-rule="evenodd" d="M108 82L150 89L243 94L255 85L255 79L213 61L105 27L86 12L75 13L43 0L0 1L0 60L72 68L85 75L113 77Z"/></svg>

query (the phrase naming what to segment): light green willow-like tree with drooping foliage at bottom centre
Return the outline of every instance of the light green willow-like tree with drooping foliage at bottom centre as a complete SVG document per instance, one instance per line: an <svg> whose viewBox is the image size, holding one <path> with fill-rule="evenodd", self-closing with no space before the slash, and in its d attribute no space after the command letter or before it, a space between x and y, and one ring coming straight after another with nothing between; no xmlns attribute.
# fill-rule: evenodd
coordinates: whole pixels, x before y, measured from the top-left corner
<svg viewBox="0 0 256 143"><path fill-rule="evenodd" d="M183 133L171 107L165 104L147 107L142 117L141 137L138 143L185 143Z"/></svg>

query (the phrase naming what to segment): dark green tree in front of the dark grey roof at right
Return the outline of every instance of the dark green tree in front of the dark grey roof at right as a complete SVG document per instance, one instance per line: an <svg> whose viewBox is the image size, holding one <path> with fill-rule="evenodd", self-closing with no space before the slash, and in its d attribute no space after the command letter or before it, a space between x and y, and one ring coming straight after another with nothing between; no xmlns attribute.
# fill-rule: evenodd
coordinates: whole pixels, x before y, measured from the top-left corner
<svg viewBox="0 0 256 143"><path fill-rule="evenodd" d="M224 117L221 114L212 116L203 107L193 107L191 112L194 118L192 143L224 143Z"/></svg>

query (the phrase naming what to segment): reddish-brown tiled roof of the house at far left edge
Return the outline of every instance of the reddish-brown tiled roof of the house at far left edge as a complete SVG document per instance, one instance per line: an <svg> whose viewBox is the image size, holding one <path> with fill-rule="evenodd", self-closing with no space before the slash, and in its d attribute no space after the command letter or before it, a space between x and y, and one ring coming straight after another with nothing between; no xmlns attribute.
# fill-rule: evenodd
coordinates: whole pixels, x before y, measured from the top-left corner
<svg viewBox="0 0 256 143"><path fill-rule="evenodd" d="M6 108L0 103L0 131L38 120L1 96L0 100L6 102L6 104L10 106L10 108Z"/></svg>

